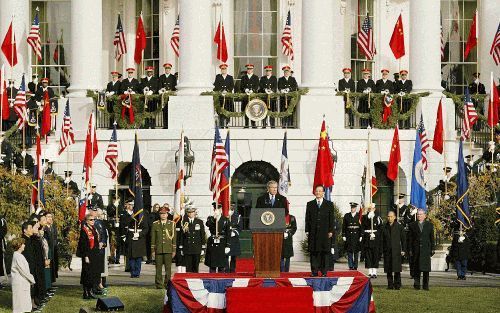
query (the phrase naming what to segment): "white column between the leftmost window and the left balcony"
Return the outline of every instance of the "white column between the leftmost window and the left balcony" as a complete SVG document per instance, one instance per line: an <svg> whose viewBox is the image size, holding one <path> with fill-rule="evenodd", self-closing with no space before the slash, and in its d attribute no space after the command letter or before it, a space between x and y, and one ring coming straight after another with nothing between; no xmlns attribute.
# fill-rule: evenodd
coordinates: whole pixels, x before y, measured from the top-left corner
<svg viewBox="0 0 500 313"><path fill-rule="evenodd" d="M102 87L102 0L73 0L70 96Z"/></svg>

